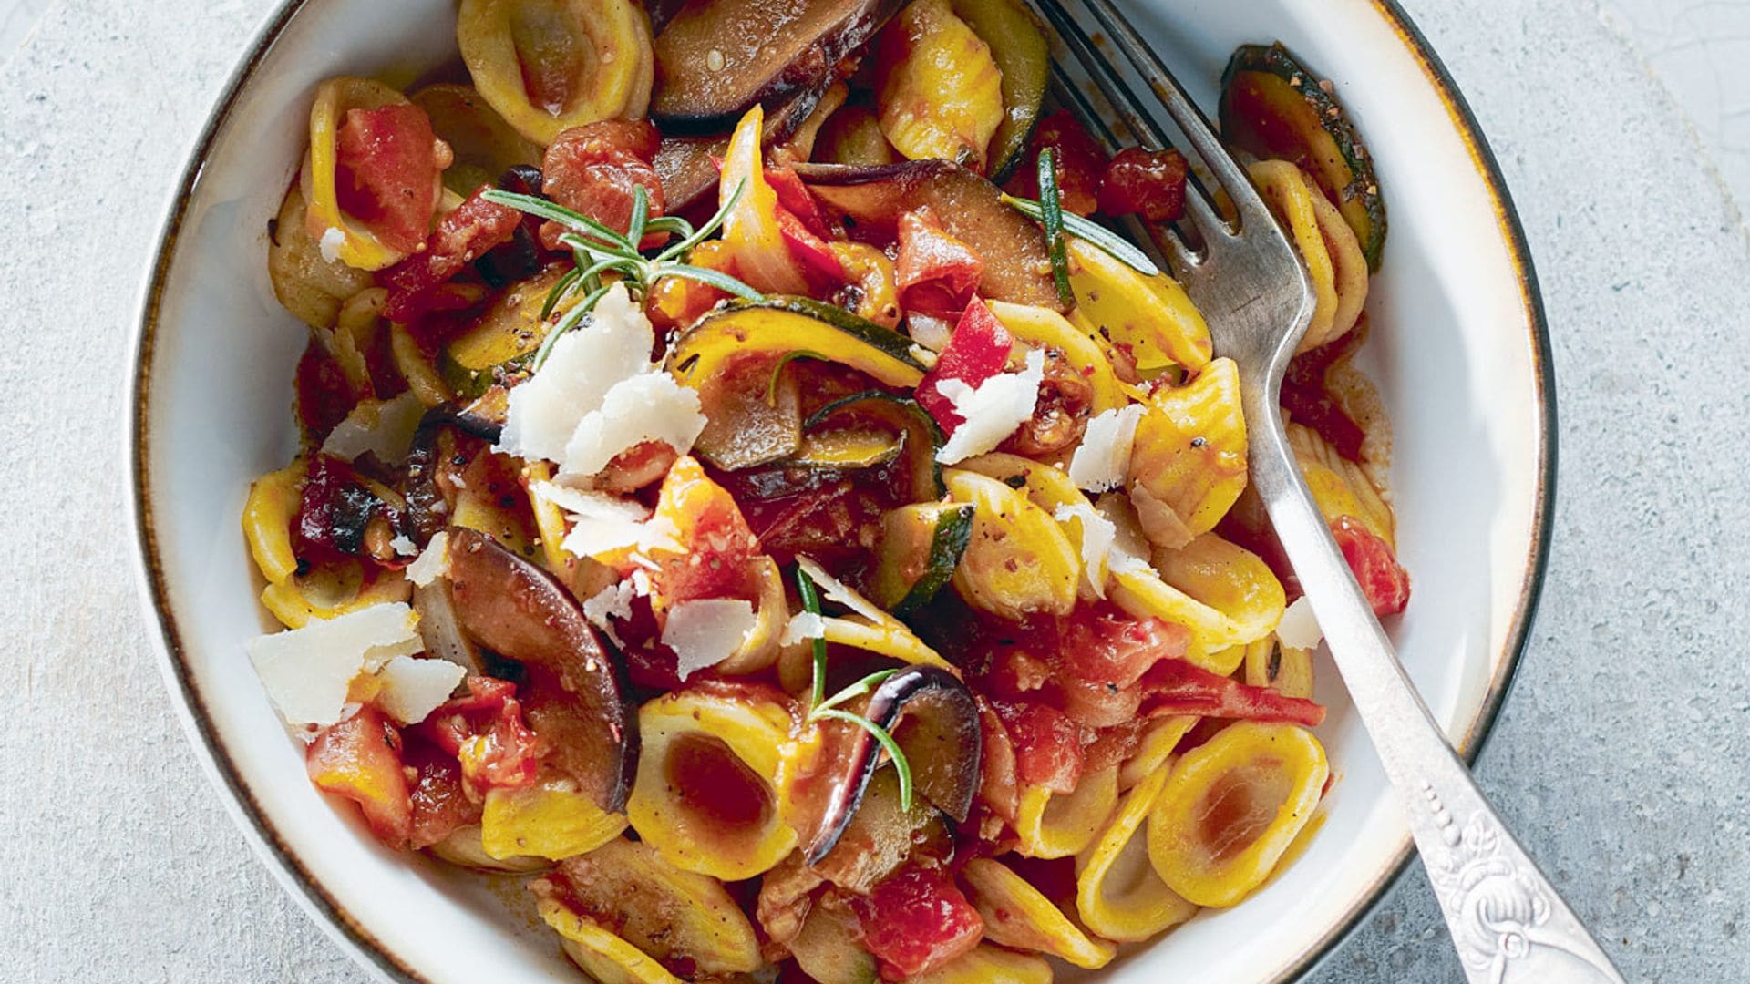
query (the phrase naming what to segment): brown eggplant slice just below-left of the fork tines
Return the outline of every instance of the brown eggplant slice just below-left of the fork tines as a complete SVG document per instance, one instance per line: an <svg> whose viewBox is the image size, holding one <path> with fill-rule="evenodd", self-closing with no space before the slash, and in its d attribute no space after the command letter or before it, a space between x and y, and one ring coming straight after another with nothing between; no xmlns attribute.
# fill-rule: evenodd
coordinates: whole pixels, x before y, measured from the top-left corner
<svg viewBox="0 0 1750 984"><path fill-rule="evenodd" d="M796 175L859 229L852 238L891 236L901 215L928 207L948 235L984 261L980 298L1064 310L1045 231L1003 203L1003 191L976 172L924 159L878 166L800 163Z"/></svg>

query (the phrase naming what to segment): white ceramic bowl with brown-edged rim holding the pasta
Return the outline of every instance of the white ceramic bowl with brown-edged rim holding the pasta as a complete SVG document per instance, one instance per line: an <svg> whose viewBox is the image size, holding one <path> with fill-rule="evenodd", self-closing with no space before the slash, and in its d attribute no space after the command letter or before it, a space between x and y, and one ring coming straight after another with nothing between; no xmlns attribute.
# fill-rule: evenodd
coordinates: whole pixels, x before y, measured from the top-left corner
<svg viewBox="0 0 1750 984"><path fill-rule="evenodd" d="M1368 366L1396 424L1393 629L1435 716L1474 753L1526 637L1547 545L1554 392L1517 221L1468 110L1384 0L1152 0L1138 26L1199 98L1241 42L1284 40L1332 77L1391 214ZM268 219L338 74L411 82L455 58L453 0L290 0L257 33L189 158L142 301L131 418L147 604L172 693L238 825L285 888L385 979L574 979L514 886L382 849L304 779L243 643L266 630L238 525L252 478L294 452L304 329L268 287ZM1281 980L1367 912L1409 835L1335 671L1320 735L1337 783L1306 853L1242 905L1204 912L1106 980ZM1428 945L1444 945L1430 942Z"/></svg>

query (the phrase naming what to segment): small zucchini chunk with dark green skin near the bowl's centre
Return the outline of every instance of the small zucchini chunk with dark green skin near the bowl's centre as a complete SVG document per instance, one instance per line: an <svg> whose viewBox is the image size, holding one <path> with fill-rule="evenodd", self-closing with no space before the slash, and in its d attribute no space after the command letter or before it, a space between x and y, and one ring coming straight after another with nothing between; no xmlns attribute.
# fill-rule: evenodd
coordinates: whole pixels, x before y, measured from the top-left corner
<svg viewBox="0 0 1750 984"><path fill-rule="evenodd" d="M917 503L889 510L880 520L880 546L872 601L906 618L922 609L954 578L973 539L971 503Z"/></svg>

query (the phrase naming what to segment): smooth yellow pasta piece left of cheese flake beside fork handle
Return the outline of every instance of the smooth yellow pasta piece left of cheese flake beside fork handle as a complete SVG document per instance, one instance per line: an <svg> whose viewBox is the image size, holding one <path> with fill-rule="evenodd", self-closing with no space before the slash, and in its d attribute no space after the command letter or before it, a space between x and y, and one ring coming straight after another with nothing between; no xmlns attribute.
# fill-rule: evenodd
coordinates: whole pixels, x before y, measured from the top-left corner
<svg viewBox="0 0 1750 984"><path fill-rule="evenodd" d="M1153 562L1164 581L1227 616L1239 646L1267 639L1288 608L1288 595L1270 566L1213 532L1199 536L1183 550L1157 550ZM1216 650L1209 655L1209 669L1227 676L1242 660L1244 651Z"/></svg>

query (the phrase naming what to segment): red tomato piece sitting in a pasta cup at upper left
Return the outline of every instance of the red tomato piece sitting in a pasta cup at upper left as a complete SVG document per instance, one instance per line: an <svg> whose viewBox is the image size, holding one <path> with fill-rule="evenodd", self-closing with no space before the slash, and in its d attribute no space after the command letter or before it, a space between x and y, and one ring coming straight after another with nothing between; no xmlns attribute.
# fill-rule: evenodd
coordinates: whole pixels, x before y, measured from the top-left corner
<svg viewBox="0 0 1750 984"><path fill-rule="evenodd" d="M450 149L416 105L350 109L334 135L334 194L392 250L413 252L430 231L438 175Z"/></svg>

